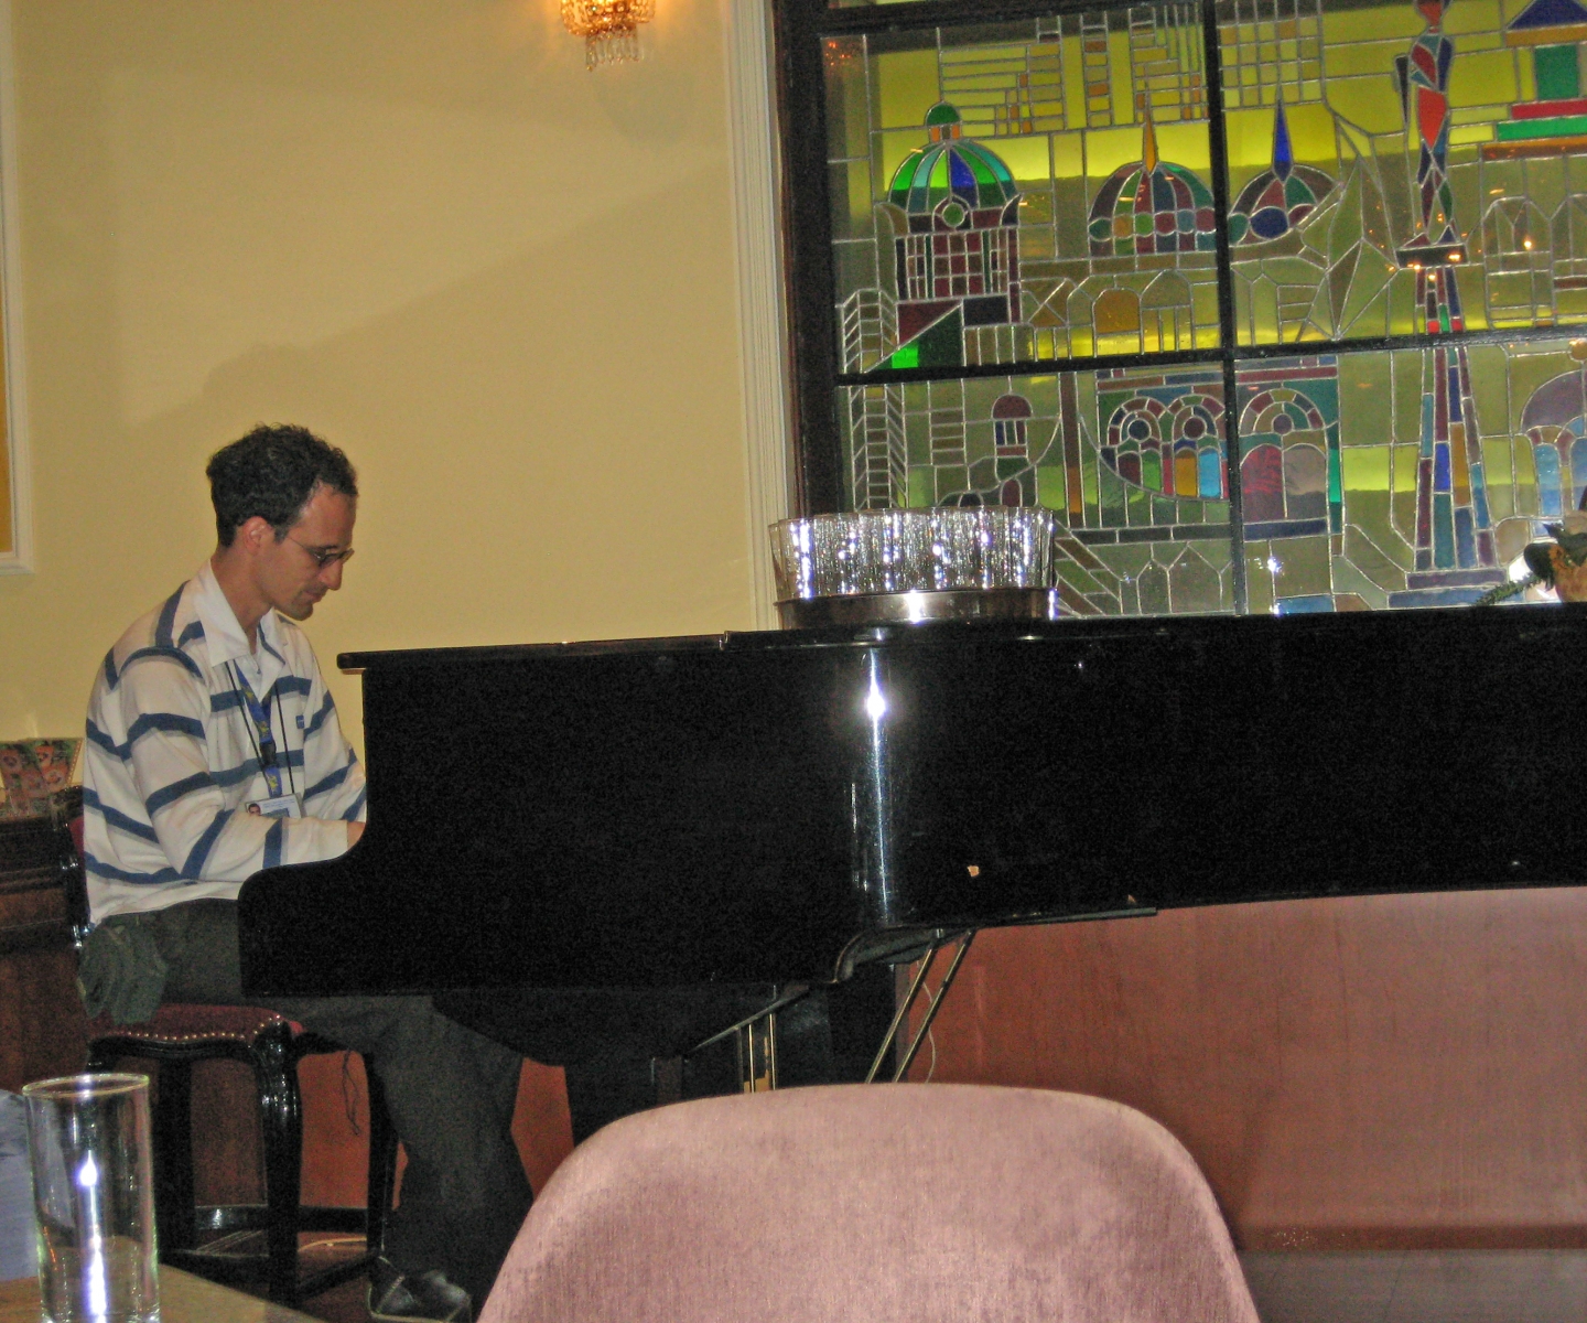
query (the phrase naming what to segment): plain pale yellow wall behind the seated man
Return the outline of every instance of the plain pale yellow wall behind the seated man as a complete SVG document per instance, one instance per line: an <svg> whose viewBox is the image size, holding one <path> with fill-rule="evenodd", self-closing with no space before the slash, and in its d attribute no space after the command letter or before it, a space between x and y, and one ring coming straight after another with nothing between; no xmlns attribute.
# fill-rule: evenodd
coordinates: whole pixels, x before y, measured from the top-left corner
<svg viewBox="0 0 1587 1323"><path fill-rule="evenodd" d="M81 727L257 421L359 467L327 670L749 627L713 0L597 73L554 0L13 6L37 573L0 577L0 739Z"/></svg>

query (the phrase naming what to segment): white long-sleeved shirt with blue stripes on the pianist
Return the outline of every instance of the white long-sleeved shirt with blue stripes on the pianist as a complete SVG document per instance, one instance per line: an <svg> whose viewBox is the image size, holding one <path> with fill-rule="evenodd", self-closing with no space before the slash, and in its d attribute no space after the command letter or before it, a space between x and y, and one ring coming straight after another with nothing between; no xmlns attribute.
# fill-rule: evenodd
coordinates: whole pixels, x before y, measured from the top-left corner
<svg viewBox="0 0 1587 1323"><path fill-rule="evenodd" d="M236 672L270 713L302 818L248 812L271 791ZM346 824L363 818L363 767L308 638L267 611L254 653L208 564L111 648L89 697L84 750L94 923L236 899L260 869L344 853Z"/></svg>

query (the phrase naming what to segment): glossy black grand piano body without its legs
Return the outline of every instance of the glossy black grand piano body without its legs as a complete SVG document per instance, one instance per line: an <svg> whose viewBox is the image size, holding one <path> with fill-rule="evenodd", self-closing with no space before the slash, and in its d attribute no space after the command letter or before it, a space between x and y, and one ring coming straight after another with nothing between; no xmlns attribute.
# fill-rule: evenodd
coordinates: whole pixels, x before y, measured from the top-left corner
<svg viewBox="0 0 1587 1323"><path fill-rule="evenodd" d="M1587 880L1587 607L355 653L256 994L827 982L920 929Z"/></svg>

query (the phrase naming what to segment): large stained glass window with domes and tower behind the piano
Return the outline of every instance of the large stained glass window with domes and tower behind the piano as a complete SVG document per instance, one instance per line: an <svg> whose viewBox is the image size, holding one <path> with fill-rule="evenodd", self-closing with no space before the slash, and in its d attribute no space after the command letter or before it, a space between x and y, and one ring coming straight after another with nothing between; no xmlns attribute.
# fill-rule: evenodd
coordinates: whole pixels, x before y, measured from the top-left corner
<svg viewBox="0 0 1587 1323"><path fill-rule="evenodd" d="M1138 615L1471 602L1576 507L1587 6L990 13L782 0L811 508L1039 503Z"/></svg>

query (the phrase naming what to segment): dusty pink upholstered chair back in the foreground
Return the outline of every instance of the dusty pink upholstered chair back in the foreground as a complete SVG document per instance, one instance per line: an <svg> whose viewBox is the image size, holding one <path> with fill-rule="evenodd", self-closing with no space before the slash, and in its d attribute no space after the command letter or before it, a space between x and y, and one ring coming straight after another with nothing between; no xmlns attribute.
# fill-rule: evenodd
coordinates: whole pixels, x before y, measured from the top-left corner
<svg viewBox="0 0 1587 1323"><path fill-rule="evenodd" d="M1212 1191L1070 1093L836 1085L608 1126L548 1183L479 1323L1257 1323Z"/></svg>

